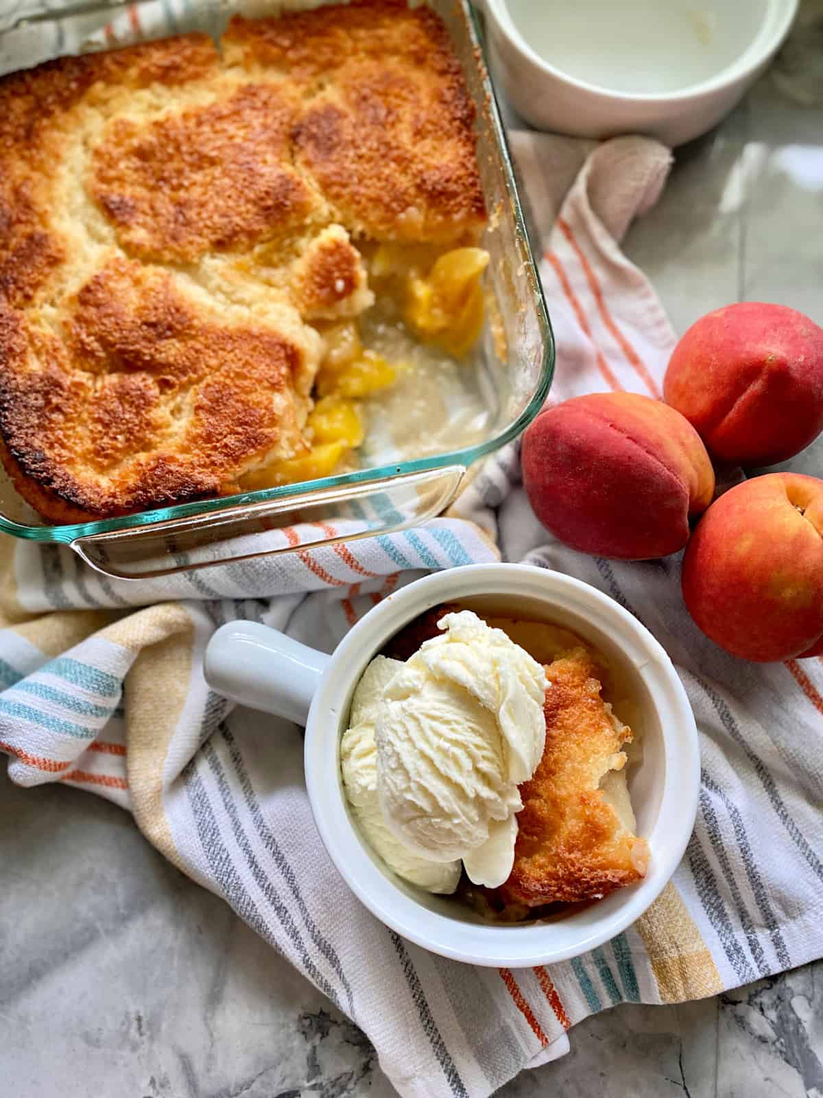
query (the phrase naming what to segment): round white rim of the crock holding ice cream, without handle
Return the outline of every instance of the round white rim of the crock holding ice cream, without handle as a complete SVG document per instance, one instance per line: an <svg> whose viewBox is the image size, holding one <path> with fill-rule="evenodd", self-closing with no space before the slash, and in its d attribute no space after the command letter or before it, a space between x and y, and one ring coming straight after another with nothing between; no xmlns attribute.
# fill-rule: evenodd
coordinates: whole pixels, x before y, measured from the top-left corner
<svg viewBox="0 0 823 1098"><path fill-rule="evenodd" d="M542 590L537 590L538 585ZM624 656L632 659L661 714L665 773L657 820L650 837L650 870L642 882L588 907L583 912L585 926L565 944L552 943L552 927L568 927L577 916L557 923L496 926L463 922L430 910L406 895L377 866L375 855L368 851L349 817L339 778L340 719L348 714L353 683L372 656L403 624L427 608L419 605L424 592L428 606L471 595L518 594L543 598L561 610L564 602L571 604L576 613L588 614L593 625L611 636ZM374 640L365 642L369 636L380 638L376 645ZM323 719L324 714L334 719ZM338 645L312 703L305 775L326 850L348 886L376 918L441 956L515 968L579 956L621 933L647 910L672 878L691 836L700 789L700 753L695 717L677 672L659 642L632 614L596 587L561 572L531 564L469 564L430 573L394 592ZM663 847L658 833L665 837Z"/></svg>

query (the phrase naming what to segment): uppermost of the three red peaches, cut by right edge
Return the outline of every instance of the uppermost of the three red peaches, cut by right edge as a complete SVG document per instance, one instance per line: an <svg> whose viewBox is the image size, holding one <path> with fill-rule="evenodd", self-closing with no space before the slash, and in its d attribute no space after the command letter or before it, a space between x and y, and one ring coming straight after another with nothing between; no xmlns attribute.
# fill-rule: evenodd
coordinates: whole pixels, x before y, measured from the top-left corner
<svg viewBox="0 0 823 1098"><path fill-rule="evenodd" d="M785 461L823 430L823 328L783 305L718 309L675 347L663 395L714 457Z"/></svg>

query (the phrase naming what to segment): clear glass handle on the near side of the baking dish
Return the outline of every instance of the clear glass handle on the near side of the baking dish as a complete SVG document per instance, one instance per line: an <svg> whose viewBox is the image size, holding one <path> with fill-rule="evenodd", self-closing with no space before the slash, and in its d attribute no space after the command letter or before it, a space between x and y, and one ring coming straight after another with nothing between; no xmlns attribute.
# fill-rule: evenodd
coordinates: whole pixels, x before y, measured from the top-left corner
<svg viewBox="0 0 823 1098"><path fill-rule="evenodd" d="M149 580L298 552L433 518L454 498L465 471L465 466L455 464L331 485L188 519L86 535L70 545L91 568L117 580Z"/></svg>

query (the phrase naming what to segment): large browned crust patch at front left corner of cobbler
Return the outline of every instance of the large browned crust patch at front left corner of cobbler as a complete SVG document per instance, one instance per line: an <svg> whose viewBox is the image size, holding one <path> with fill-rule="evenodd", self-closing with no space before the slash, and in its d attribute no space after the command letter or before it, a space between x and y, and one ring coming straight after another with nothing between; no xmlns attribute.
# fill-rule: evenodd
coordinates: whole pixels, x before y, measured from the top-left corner
<svg viewBox="0 0 823 1098"><path fill-rule="evenodd" d="M64 329L0 305L7 468L54 522L236 491L249 467L303 446L306 347L204 313L162 271L112 260Z"/></svg>

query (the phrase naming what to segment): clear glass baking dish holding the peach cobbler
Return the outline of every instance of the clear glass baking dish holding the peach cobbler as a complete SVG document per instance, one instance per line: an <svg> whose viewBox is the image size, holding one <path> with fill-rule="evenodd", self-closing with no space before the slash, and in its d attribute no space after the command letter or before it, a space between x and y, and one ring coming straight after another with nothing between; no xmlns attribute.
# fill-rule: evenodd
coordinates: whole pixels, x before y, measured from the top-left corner
<svg viewBox="0 0 823 1098"><path fill-rule="evenodd" d="M406 439L399 453L370 445L367 437L362 450L368 467L353 472L63 526L46 525L0 473L0 531L69 545L92 568L120 579L386 534L443 511L478 460L534 418L551 384L554 341L480 27L467 0L430 0L430 5L449 29L476 110L477 160L489 214L483 247L492 257L484 291L496 306L491 312L495 323L487 318L475 349L456 368L456 381L449 382L453 391L431 393L448 410L440 441L432 444L426 415L418 415L417 435ZM143 0L128 5L0 0L0 74L184 31L216 36L237 11L262 15L289 7L266 0ZM443 386L449 388L446 381L438 390ZM455 401L460 414L452 416ZM477 414L466 416L466 407Z"/></svg>

